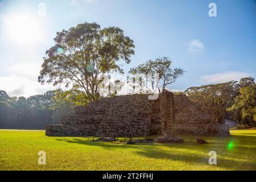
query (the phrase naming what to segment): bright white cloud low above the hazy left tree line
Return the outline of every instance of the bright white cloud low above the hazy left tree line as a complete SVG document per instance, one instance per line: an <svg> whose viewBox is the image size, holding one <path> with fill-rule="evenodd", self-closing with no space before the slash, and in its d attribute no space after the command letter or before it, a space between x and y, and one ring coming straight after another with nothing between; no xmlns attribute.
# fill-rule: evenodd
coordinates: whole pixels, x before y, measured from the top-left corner
<svg viewBox="0 0 256 182"><path fill-rule="evenodd" d="M37 81L31 81L21 76L11 75L0 77L0 90L5 90L9 96L29 97L53 89L55 88L51 85L41 85Z"/></svg>

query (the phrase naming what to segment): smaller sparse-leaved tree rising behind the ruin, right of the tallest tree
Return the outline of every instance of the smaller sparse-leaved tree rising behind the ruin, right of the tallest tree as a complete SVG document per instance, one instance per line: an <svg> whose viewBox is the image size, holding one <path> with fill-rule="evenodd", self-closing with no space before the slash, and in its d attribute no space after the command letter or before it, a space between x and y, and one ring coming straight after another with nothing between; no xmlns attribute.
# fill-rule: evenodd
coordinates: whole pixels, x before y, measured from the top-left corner
<svg viewBox="0 0 256 182"><path fill-rule="evenodd" d="M178 77L182 76L185 71L181 68L172 68L172 61L169 57L159 57L156 60L148 60L146 63L131 68L129 73L139 76L139 86L141 90L147 88L153 92L158 90L161 93L167 85L174 83ZM150 86L147 85L150 82Z"/></svg>

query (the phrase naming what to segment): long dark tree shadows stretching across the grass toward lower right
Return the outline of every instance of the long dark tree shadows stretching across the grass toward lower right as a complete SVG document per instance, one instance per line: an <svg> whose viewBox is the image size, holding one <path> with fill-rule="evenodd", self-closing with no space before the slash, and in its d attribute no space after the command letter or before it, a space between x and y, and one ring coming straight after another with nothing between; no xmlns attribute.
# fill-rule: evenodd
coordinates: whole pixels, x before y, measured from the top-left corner
<svg viewBox="0 0 256 182"><path fill-rule="evenodd" d="M113 150L115 148L123 148L124 150L132 149L131 153L146 158L188 162L195 164L195 166L209 165L208 160L210 156L208 155L208 152L213 150L217 152L217 167L227 170L256 169L254 156L242 158L242 154L244 154L245 151L249 151L250 154L256 153L255 136L232 135L232 137L205 137L209 140L209 143L203 145L197 144L195 142L195 137L193 137L192 142L189 142L188 137L184 138L186 138L185 143L179 144L138 143L134 145L123 145L122 142L92 142L92 138L60 138L56 140L103 147L108 150ZM228 148L230 142L234 143L233 148ZM242 159L239 158L239 156L241 156Z"/></svg>

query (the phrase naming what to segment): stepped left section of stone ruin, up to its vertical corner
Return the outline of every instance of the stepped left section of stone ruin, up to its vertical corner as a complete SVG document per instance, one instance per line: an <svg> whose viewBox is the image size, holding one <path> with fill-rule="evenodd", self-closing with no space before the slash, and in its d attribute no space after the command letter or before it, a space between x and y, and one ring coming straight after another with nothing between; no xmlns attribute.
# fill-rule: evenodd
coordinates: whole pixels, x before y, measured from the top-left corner
<svg viewBox="0 0 256 182"><path fill-rule="evenodd" d="M150 134L151 107L152 102L146 94L103 98L87 107L76 107L75 115L65 116L61 125L47 126L46 135L125 137L131 132L138 137L147 136Z"/></svg>

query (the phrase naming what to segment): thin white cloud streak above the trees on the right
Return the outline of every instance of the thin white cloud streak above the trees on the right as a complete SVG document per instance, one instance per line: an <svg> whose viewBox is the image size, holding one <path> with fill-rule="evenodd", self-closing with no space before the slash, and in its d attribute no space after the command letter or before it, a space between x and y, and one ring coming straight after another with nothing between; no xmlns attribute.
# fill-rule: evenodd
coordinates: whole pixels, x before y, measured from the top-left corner
<svg viewBox="0 0 256 182"><path fill-rule="evenodd" d="M217 73L213 75L204 75L201 76L201 82L204 84L217 84L228 81L239 81L243 77L254 76L253 73L243 73L238 71L230 71L224 73Z"/></svg>

